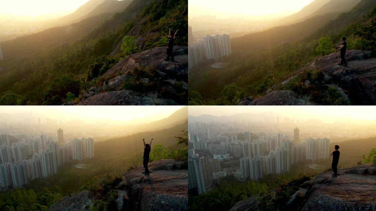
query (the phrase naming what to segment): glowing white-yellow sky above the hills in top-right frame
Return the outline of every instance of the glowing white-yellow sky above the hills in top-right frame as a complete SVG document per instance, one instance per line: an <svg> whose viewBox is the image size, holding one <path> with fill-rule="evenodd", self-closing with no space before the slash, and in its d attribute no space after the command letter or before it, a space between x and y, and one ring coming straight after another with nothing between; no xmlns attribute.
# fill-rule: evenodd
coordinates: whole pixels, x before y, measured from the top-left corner
<svg viewBox="0 0 376 211"><path fill-rule="evenodd" d="M232 15L267 15L272 13L293 14L313 0L189 0L188 15L216 15L227 18Z"/></svg>

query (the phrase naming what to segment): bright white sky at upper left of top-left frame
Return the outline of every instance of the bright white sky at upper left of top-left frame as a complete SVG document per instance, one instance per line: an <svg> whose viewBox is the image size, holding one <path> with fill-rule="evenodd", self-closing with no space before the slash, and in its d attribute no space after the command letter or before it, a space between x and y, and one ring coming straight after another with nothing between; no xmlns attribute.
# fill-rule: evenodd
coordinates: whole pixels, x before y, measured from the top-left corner
<svg viewBox="0 0 376 211"><path fill-rule="evenodd" d="M0 0L0 15L69 14L88 0Z"/></svg>

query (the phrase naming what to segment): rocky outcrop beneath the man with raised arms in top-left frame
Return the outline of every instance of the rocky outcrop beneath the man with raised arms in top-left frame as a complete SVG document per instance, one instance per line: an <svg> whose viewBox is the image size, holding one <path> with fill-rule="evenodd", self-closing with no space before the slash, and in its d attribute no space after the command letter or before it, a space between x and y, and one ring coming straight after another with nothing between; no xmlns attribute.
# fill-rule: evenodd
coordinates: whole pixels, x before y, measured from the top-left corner
<svg viewBox="0 0 376 211"><path fill-rule="evenodd" d="M156 79L162 81L169 93L176 93L177 82L188 91L188 47L174 46L175 62L165 61L166 56L165 47L159 47L125 57L102 76L103 84L88 89L77 105L178 105L156 91L123 89L124 81L135 67L153 67L158 71ZM147 85L149 78L140 78L140 82Z"/></svg>

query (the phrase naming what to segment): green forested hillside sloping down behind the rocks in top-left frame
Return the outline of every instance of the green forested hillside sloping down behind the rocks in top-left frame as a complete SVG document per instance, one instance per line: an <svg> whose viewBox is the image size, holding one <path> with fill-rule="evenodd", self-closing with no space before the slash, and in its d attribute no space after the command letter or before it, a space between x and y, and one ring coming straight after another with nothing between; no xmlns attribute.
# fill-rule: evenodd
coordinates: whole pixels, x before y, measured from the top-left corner
<svg viewBox="0 0 376 211"><path fill-rule="evenodd" d="M179 29L175 44L187 45L188 0L134 0L83 38L41 54L0 61L0 104L79 101L97 77L128 55L127 48L120 48L125 36L135 40L136 51L144 51L165 46L170 28Z"/></svg>

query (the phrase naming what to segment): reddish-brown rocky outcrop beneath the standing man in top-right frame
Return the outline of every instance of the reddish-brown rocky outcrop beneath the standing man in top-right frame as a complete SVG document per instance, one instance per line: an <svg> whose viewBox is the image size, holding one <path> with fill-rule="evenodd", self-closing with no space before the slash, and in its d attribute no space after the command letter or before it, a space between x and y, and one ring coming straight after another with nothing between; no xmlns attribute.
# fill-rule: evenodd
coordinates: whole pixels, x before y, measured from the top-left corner
<svg viewBox="0 0 376 211"><path fill-rule="evenodd" d="M324 73L323 83L339 92L352 105L376 105L376 57L371 51L347 50L348 66L338 65L340 53L332 53L309 62L298 72L319 69ZM266 95L253 101L240 101L238 105L317 105L308 95L298 95L291 90L283 90L290 81L299 78L294 75L279 84L279 89L271 88ZM303 86L308 87L310 81Z"/></svg>

